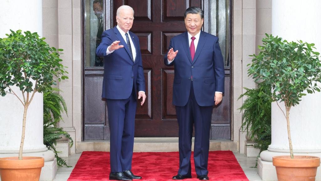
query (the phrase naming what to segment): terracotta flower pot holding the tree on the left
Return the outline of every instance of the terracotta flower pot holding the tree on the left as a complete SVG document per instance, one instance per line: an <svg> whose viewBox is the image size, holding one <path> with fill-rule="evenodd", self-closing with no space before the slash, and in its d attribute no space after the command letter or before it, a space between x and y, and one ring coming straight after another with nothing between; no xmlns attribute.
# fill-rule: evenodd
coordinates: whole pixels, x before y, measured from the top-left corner
<svg viewBox="0 0 321 181"><path fill-rule="evenodd" d="M0 158L1 181L39 181L44 164L42 157Z"/></svg>

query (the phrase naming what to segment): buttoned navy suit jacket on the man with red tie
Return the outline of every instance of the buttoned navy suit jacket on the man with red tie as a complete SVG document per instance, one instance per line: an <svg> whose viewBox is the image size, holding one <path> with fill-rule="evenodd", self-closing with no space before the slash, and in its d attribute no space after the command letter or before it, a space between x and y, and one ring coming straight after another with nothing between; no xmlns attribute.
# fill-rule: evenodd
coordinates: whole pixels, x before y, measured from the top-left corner
<svg viewBox="0 0 321 181"><path fill-rule="evenodd" d="M178 50L178 53L170 64L165 55L164 63L175 67L173 104L187 104L193 81L197 104L213 106L215 91L224 92L224 62L218 38L201 31L193 61L187 32L173 37L169 44L171 48Z"/></svg>

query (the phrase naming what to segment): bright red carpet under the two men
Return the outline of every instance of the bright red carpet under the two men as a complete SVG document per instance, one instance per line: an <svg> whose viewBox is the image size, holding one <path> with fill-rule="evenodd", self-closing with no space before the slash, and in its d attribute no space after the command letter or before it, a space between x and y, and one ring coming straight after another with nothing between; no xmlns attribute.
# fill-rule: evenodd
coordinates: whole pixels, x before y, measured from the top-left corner
<svg viewBox="0 0 321 181"><path fill-rule="evenodd" d="M178 152L134 153L132 171L142 176L142 181L173 181L171 178L178 171L178 158ZM193 178L184 181L199 180L193 158L191 162ZM210 151L208 170L208 177L213 181L248 181L231 151ZM68 181L106 181L109 180L109 172L109 152L84 151Z"/></svg>

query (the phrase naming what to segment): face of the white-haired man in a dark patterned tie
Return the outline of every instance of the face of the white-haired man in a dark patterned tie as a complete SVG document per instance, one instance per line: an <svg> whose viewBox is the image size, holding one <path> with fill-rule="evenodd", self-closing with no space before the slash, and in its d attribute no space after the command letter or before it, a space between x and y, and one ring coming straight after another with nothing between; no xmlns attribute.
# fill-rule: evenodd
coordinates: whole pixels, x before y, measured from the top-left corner
<svg viewBox="0 0 321 181"><path fill-rule="evenodd" d="M127 33L133 26L134 13L131 9L122 9L119 16L116 16L117 25Z"/></svg>

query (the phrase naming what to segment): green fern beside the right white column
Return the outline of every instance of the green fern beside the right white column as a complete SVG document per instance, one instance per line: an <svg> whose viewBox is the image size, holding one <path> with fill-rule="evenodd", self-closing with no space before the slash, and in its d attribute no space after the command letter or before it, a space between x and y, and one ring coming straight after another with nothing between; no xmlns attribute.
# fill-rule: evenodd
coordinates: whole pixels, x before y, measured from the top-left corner
<svg viewBox="0 0 321 181"><path fill-rule="evenodd" d="M247 96L239 108L244 111L241 129L245 129L247 135L250 133L250 138L256 142L251 146L260 150L257 156L259 157L271 144L271 86L259 83L256 89L244 89L246 92L239 96L239 99Z"/></svg>

